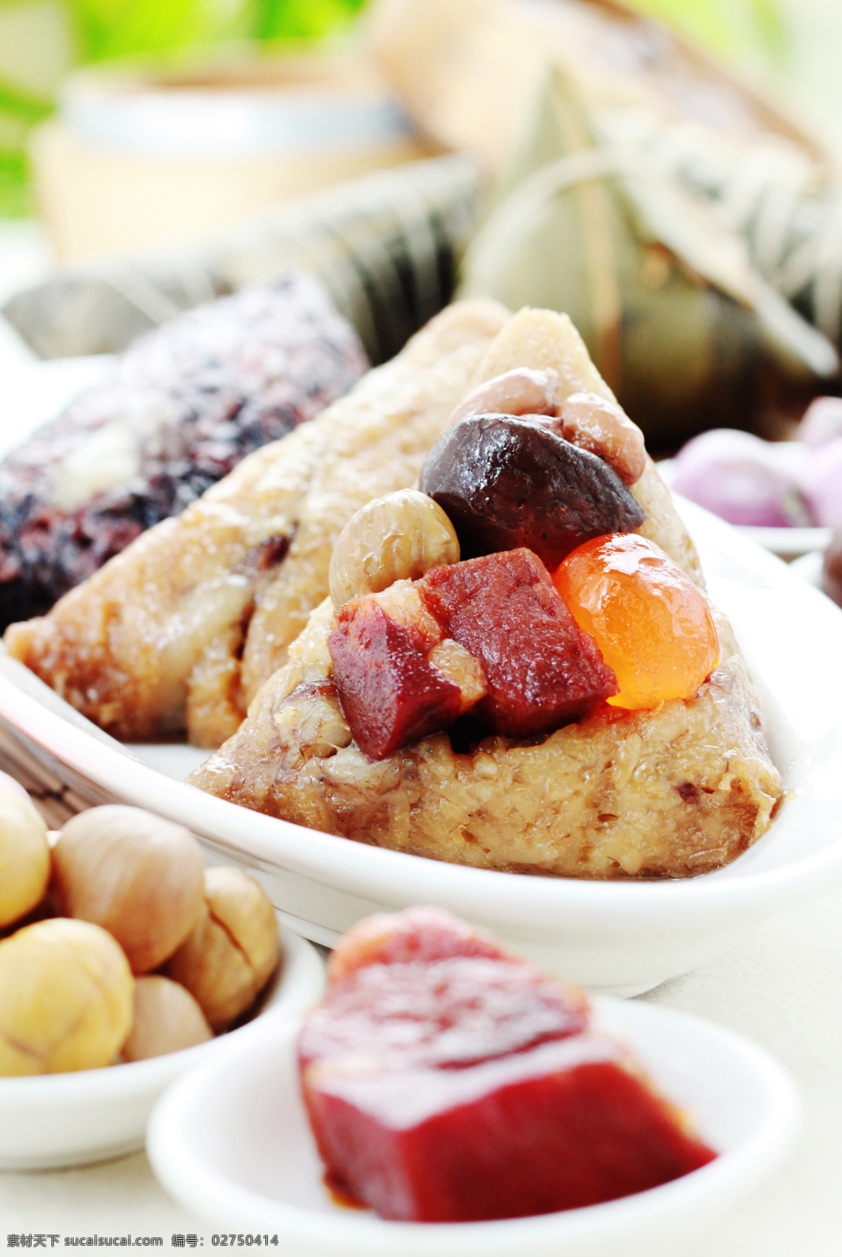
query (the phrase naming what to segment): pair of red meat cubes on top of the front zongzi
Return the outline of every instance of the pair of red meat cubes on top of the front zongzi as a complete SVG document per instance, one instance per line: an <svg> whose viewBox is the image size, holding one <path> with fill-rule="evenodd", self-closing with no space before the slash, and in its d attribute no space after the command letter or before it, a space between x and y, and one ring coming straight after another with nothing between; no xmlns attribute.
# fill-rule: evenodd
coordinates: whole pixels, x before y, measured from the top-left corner
<svg viewBox="0 0 842 1257"><path fill-rule="evenodd" d="M495 733L528 737L617 693L593 639L528 549L437 567L353 598L328 639L357 745L382 759L470 709Z"/></svg>

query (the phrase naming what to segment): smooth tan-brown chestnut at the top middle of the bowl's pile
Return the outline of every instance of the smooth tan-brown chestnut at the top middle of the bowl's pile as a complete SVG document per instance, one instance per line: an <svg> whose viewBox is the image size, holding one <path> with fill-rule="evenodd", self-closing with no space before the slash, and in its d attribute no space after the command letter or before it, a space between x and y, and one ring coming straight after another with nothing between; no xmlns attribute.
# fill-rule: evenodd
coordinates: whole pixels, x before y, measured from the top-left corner
<svg viewBox="0 0 842 1257"><path fill-rule="evenodd" d="M62 910L113 934L134 973L172 955L202 906L199 843L181 825L137 807L74 816L53 848L53 867Z"/></svg>

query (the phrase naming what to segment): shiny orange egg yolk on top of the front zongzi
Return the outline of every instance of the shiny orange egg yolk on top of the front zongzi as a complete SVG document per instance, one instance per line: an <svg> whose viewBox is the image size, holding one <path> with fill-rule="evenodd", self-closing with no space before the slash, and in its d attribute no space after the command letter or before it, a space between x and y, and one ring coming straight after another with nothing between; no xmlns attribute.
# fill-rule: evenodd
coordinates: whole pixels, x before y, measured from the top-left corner
<svg viewBox="0 0 842 1257"><path fill-rule="evenodd" d="M692 698L719 662L710 607L653 542L610 533L579 546L553 576L581 628L617 676L615 706Z"/></svg>

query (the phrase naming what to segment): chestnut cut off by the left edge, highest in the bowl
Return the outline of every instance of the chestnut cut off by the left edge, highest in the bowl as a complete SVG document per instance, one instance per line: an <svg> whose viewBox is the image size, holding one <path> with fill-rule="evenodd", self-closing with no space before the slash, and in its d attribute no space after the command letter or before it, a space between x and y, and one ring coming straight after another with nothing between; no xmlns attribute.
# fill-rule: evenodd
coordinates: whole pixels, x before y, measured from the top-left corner
<svg viewBox="0 0 842 1257"><path fill-rule="evenodd" d="M0 781L0 926L40 904L49 877L44 818L23 787L10 778Z"/></svg>

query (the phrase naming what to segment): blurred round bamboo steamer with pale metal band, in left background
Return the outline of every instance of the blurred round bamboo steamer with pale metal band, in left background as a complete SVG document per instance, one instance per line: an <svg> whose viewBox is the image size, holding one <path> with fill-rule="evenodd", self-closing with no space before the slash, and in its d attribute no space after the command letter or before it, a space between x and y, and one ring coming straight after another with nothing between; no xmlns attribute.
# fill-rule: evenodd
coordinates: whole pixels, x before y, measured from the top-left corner
<svg viewBox="0 0 842 1257"><path fill-rule="evenodd" d="M40 212L69 264L195 244L434 151L352 54L79 72L31 145Z"/></svg>

